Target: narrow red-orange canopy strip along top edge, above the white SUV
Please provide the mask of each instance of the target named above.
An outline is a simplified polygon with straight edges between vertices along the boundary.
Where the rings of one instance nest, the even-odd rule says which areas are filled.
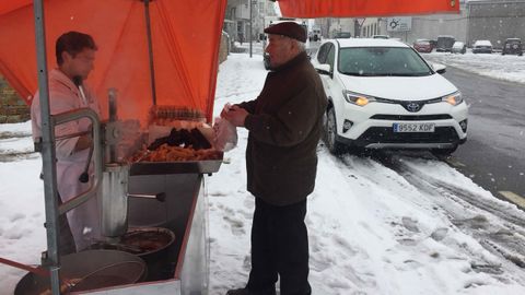
[[[278,0],[289,17],[353,17],[459,13],[459,0]]]

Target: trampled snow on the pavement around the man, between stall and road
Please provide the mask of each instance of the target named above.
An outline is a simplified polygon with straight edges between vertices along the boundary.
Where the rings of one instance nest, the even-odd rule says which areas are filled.
[[[255,59],[255,60],[254,60]],[[252,91],[231,95],[221,90],[262,84],[261,59],[231,55],[222,64],[215,114],[225,103],[255,98]],[[445,63],[445,62],[443,62]],[[240,71],[246,69],[246,72]],[[262,74],[261,74],[262,72]],[[258,76],[260,75],[260,76]],[[237,78],[238,76],[238,78]],[[241,85],[241,88],[244,88]],[[209,179],[211,225],[211,294],[242,286],[249,271],[249,231],[253,197],[245,190],[244,149],[247,132],[240,129],[240,146],[231,164]],[[438,161],[411,162],[446,182],[472,193],[489,192]],[[228,184],[224,186],[224,184]],[[221,188],[222,187],[222,188]],[[311,283],[313,294],[520,294],[523,275],[490,275],[471,266],[499,264],[500,258],[455,227],[436,210],[434,196],[423,194],[405,178],[370,160],[342,161],[319,148],[316,190],[310,197]],[[504,203],[504,202],[501,202]],[[509,211],[517,209],[506,203]],[[520,214],[520,213],[517,213]]]

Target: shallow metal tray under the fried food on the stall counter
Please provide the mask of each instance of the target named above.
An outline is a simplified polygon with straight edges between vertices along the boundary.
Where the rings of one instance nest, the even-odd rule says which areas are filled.
[[[178,162],[138,162],[131,164],[129,175],[212,174],[219,170],[221,164],[222,158]]]

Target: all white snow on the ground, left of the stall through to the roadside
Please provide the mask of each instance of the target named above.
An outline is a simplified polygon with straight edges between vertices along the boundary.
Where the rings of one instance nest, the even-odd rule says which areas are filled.
[[[429,57],[445,64],[457,62],[458,56],[448,56]],[[448,60],[452,58],[454,61]],[[478,71],[474,61],[462,63],[470,66]],[[505,74],[504,70],[491,72]],[[255,98],[266,73],[260,55],[230,55],[220,67],[214,114],[226,103]],[[30,151],[30,130],[28,123],[0,125],[0,156]],[[2,137],[7,132],[11,132],[9,139]],[[14,133],[26,137],[13,139]],[[243,286],[249,271],[254,198],[246,191],[246,130],[240,129],[238,146],[226,153],[220,172],[207,178],[212,295]],[[523,270],[489,252],[456,226],[444,210],[451,202],[444,193],[422,189],[407,175],[429,184],[439,179],[495,203],[504,214],[523,214],[514,205],[497,200],[435,160],[400,156],[402,169],[396,169],[373,158],[334,157],[323,145],[318,154],[316,189],[306,216],[313,294],[525,294]],[[40,160],[34,154],[0,162],[0,257],[24,263],[39,261],[46,244],[39,169]],[[453,214],[459,217],[481,214],[491,223],[502,223],[487,212],[458,202],[455,205],[458,209]],[[495,266],[501,271],[479,271],[475,266]],[[0,294],[11,294],[23,273],[0,266]]]

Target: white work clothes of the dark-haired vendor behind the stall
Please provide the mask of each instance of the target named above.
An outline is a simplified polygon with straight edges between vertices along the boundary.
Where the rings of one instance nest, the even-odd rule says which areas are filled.
[[[68,110],[90,107],[100,114],[98,102],[89,86],[84,84],[84,94],[86,102],[82,99],[79,88],[60,70],[54,69],[49,72],[49,107],[50,114],[56,115]],[[31,105],[31,118],[33,128],[33,139],[42,137],[42,116],[39,94],[36,93]],[[55,137],[88,131],[90,119],[70,121],[56,127]],[[57,156],[57,182],[58,191],[63,202],[86,191],[93,179],[90,169],[90,182],[82,184],[79,176],[85,169],[89,150],[73,152],[79,138],[58,140],[56,142]],[[92,198],[81,206],[68,212],[68,221],[73,233],[77,249],[81,250],[89,246],[92,239],[100,235],[100,213],[96,198]]]

